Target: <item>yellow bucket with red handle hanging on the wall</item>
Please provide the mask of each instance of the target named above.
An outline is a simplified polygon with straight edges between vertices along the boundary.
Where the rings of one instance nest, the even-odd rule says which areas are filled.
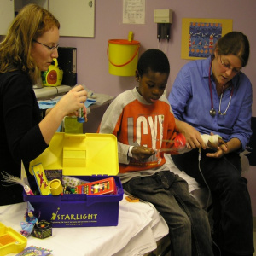
[[[109,73],[116,76],[134,76],[140,42],[125,39],[108,40]]]

